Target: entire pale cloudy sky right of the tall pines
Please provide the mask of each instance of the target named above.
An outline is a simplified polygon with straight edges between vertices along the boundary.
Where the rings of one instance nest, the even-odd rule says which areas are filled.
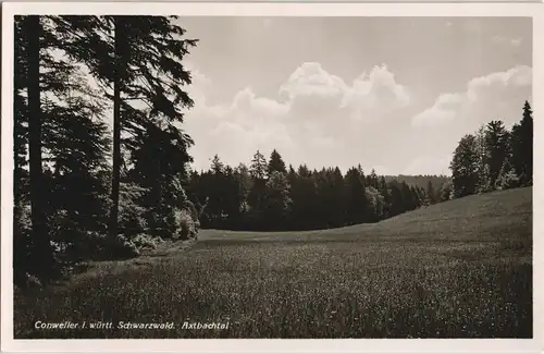
[[[311,168],[448,174],[459,138],[519,121],[532,24],[516,17],[182,17],[197,170],[276,148]]]

